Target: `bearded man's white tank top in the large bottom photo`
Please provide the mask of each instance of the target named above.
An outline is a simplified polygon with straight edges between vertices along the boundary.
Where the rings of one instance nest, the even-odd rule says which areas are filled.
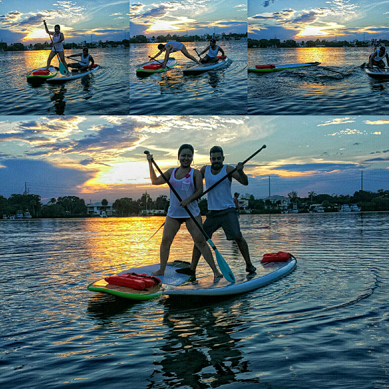
[[[223,178],[227,174],[227,165],[223,165],[223,168],[219,174],[213,175],[211,173],[211,166],[207,165],[205,168],[205,186],[211,187],[214,183]],[[208,192],[208,210],[209,211],[220,211],[227,208],[235,208],[234,200],[231,195],[231,181],[226,178],[216,187]]]

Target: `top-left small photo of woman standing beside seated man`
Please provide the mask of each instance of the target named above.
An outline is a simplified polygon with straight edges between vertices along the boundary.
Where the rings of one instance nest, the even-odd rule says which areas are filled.
[[[4,0],[0,14],[0,115],[129,113],[128,2]]]

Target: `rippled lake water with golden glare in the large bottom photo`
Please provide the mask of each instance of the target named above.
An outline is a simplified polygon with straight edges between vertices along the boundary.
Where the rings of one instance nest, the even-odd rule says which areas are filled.
[[[254,264],[286,278],[224,299],[133,303],[92,281],[158,261],[164,219],[3,220],[0,386],[387,389],[389,213],[242,215]],[[268,225],[270,229],[256,229]],[[231,269],[234,243],[213,241]],[[171,259],[189,259],[184,227]],[[201,260],[198,277],[210,275]]]

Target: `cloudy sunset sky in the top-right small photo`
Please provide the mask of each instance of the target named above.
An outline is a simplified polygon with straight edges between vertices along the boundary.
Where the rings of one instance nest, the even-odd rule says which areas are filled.
[[[248,0],[249,37],[254,39],[389,39],[388,22],[388,0]]]

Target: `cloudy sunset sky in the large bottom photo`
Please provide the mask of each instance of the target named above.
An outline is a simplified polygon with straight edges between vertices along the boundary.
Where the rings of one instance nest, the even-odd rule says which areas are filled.
[[[352,195],[389,189],[389,119],[378,116],[40,116],[0,117],[0,195],[30,192],[44,202],[79,196],[110,202],[153,199],[168,187],[150,185],[144,150],[162,170],[177,166],[181,143],[195,147],[195,164],[209,162],[221,145],[235,166],[245,165],[249,186],[233,191],[255,198],[295,190]],[[178,140],[179,139],[179,140]]]

